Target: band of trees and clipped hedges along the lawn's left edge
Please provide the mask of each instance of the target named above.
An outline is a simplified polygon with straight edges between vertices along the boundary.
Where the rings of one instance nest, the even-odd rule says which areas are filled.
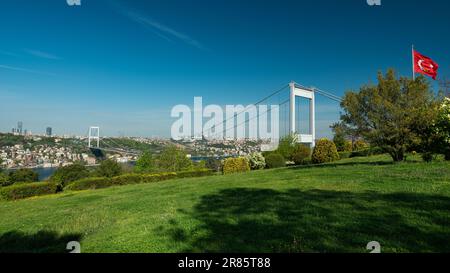
[[[15,200],[64,190],[96,189],[212,174],[213,171],[205,166],[205,162],[194,163],[183,149],[170,145],[157,155],[144,153],[135,167],[119,164],[112,159],[101,161],[95,168],[75,162],[58,168],[45,182],[37,182],[38,175],[31,169],[20,169],[9,174],[0,170],[0,198]]]

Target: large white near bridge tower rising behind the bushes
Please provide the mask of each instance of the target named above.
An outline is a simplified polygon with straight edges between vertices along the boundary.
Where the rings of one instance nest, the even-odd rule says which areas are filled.
[[[316,114],[315,114],[315,96],[314,89],[300,87],[295,82],[289,84],[290,99],[289,99],[289,132],[298,134],[298,141],[300,143],[310,144],[311,148],[315,146],[316,139]],[[301,97],[309,99],[309,133],[299,134],[299,128],[296,128],[296,102],[295,98]]]

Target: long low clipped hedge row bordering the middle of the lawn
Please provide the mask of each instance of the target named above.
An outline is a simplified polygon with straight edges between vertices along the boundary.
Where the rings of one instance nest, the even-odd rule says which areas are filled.
[[[140,184],[151,183],[157,181],[163,181],[173,178],[186,178],[186,177],[200,177],[212,175],[213,171],[209,169],[201,169],[194,171],[184,172],[167,172],[158,174],[124,174],[116,177],[93,177],[85,178],[74,181],[67,185],[64,190],[88,190],[88,189],[101,189],[112,186],[128,185],[128,184]]]

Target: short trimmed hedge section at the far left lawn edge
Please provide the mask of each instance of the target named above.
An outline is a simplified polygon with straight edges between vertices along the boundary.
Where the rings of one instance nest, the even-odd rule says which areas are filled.
[[[0,189],[4,200],[17,200],[31,196],[52,194],[56,192],[56,184],[51,182],[17,183]]]

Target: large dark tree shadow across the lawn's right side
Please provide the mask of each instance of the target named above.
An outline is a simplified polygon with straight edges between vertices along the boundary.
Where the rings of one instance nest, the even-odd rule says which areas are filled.
[[[450,252],[450,198],[422,194],[233,188],[203,196],[199,224],[159,227],[182,252]]]

